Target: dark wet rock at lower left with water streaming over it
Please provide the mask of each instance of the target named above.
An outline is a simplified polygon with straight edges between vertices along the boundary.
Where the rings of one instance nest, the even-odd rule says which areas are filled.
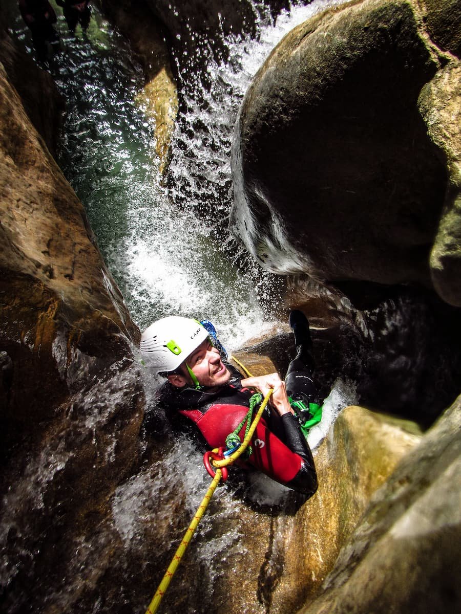
[[[107,573],[110,585],[124,556],[111,499],[140,457],[144,397],[129,362],[68,398],[45,427],[31,412],[40,445],[19,448],[2,472],[4,612],[44,604],[84,612],[79,604],[89,595],[95,604],[93,591],[108,599],[111,588],[101,578]]]

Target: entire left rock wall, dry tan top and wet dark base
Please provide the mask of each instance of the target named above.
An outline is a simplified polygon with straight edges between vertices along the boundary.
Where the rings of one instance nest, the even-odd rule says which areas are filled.
[[[139,462],[139,332],[1,65],[0,208],[2,607],[77,611],[111,563],[111,497]]]

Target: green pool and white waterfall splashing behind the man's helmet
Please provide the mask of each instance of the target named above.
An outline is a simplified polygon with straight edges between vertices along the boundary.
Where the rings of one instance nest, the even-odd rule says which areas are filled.
[[[229,59],[207,60],[210,88],[190,74],[179,84],[187,112],[176,126],[169,188],[160,182],[153,126],[134,103],[143,75],[126,41],[96,8],[87,35],[71,36],[58,17],[63,53],[50,72],[66,99],[60,164],[141,328],[167,314],[208,317],[230,349],[269,328],[280,281],[222,230],[231,206],[232,130],[270,50],[327,4],[293,6],[275,24],[255,4],[258,40],[227,37]],[[20,20],[17,33],[28,37]]]

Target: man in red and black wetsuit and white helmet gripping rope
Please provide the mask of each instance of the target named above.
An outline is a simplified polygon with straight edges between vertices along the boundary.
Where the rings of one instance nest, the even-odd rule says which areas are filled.
[[[288,397],[308,406],[315,394],[312,342],[301,311],[291,313],[290,325],[297,356],[285,381],[277,373],[243,378],[224,359],[222,347],[207,328],[179,316],[165,317],[149,326],[141,336],[141,354],[146,364],[168,380],[162,405],[191,419],[211,448],[226,445],[227,435],[245,418],[254,391],[264,396],[272,389],[245,464],[310,497],[317,490],[312,452]],[[241,440],[244,430],[242,426]]]

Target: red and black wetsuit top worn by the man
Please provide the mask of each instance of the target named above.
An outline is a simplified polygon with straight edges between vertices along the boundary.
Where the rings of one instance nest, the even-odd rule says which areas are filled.
[[[166,384],[162,405],[178,411],[195,422],[211,448],[226,446],[226,437],[245,418],[253,392],[242,388],[242,375],[226,363],[231,373],[229,384],[218,391],[176,388]],[[240,438],[243,441],[245,426]],[[317,475],[312,452],[293,414],[278,416],[266,407],[251,439],[251,456],[245,464],[258,468],[288,488],[312,496],[317,490]]]

